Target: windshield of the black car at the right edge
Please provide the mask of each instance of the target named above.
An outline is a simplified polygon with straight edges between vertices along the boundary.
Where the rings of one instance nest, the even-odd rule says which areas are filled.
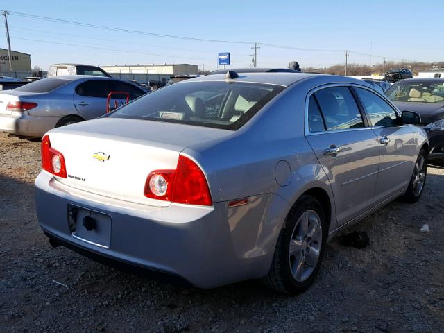
[[[386,91],[393,102],[444,103],[444,83],[396,83]]]

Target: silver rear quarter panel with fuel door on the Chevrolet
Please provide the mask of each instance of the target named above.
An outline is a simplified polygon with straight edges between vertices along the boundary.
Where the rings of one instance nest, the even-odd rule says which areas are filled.
[[[289,204],[282,224],[301,194],[321,187],[330,196],[334,212],[330,183],[304,136],[305,96],[311,87],[301,83],[288,87],[232,136],[182,152],[200,163],[214,201],[274,194]],[[276,176],[282,178],[276,172],[280,161],[289,165],[284,186],[276,180]],[[335,228],[336,221],[332,219],[330,226]]]

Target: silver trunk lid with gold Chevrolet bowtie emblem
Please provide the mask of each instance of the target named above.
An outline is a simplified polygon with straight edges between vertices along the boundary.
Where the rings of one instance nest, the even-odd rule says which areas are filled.
[[[186,130],[187,135],[184,135]],[[176,169],[180,152],[228,130],[133,119],[96,119],[51,130],[51,146],[65,157],[60,182],[94,194],[165,207],[144,196],[151,171]]]

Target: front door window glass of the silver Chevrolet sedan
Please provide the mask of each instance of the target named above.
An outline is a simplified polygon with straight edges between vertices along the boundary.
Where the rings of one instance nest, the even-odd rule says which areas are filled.
[[[371,126],[397,125],[396,112],[386,101],[367,89],[355,88],[355,90],[370,117]]]

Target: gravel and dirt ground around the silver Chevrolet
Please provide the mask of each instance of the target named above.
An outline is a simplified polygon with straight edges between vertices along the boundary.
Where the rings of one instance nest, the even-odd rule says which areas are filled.
[[[0,134],[0,332],[443,332],[444,169],[429,168],[419,203],[352,228],[370,246],[328,244],[315,284],[293,297],[255,281],[185,289],[51,248],[39,170],[40,143]]]

